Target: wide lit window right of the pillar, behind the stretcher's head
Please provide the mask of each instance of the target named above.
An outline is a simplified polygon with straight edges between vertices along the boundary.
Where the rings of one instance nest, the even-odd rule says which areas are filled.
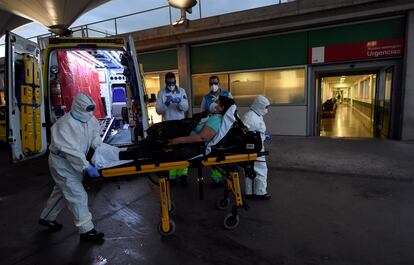
[[[213,75],[193,77],[194,102],[198,106],[209,92],[208,78]],[[281,69],[217,75],[220,86],[230,92],[236,104],[250,106],[257,95],[266,96],[271,104],[305,104],[305,69]]]

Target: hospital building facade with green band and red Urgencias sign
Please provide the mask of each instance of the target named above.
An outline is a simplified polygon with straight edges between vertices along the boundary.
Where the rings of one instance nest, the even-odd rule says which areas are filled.
[[[241,113],[269,98],[276,135],[414,139],[413,1],[299,0],[132,35],[149,93],[173,71],[193,112],[217,75]]]

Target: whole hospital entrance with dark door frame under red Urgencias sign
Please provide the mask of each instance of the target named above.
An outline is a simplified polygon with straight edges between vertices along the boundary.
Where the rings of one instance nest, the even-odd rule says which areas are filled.
[[[315,135],[398,139],[401,96],[397,60],[318,66]]]

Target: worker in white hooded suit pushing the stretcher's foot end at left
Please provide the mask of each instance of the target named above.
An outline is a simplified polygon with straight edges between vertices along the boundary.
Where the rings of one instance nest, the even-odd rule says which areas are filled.
[[[94,229],[88,194],[82,185],[86,173],[90,177],[99,177],[98,169],[86,159],[89,148],[96,149],[102,144],[99,123],[93,116],[95,106],[89,96],[80,93],[73,100],[70,112],[51,128],[49,169],[56,184],[39,219],[40,225],[59,231],[62,224],[56,222],[56,217],[67,205],[79,229],[80,239],[85,241],[100,241],[104,237]]]

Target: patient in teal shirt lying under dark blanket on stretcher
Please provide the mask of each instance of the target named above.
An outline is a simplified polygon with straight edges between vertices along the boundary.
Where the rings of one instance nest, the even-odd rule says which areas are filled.
[[[191,160],[208,154],[224,154],[217,149],[226,142],[226,151],[233,153],[259,152],[262,148],[260,135],[249,132],[236,119],[234,100],[219,97],[214,113],[195,114],[192,118],[154,124],[148,137],[119,152],[119,159],[135,163],[171,162]],[[231,137],[224,136],[230,134]],[[247,150],[248,149],[248,150]]]

